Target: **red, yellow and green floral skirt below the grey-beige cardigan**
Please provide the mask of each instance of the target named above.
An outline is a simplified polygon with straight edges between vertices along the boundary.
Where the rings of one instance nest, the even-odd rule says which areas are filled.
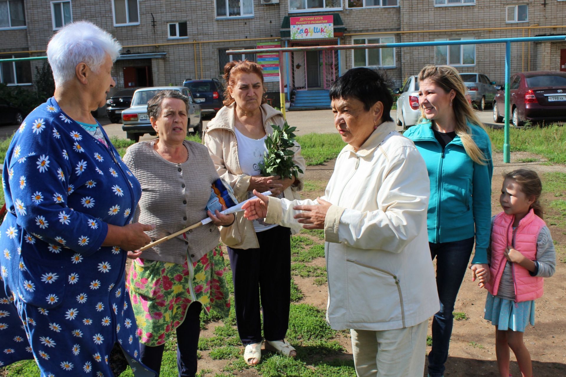
[[[128,285],[140,342],[148,346],[164,344],[183,323],[193,301],[199,301],[207,313],[213,309],[228,317],[230,297],[225,271],[224,255],[218,246],[192,266],[187,259],[183,265],[135,259]]]

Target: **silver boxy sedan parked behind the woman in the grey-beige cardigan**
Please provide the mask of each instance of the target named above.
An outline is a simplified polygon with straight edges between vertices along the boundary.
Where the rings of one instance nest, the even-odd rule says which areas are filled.
[[[128,139],[138,142],[140,136],[145,133],[156,135],[155,130],[151,127],[151,123],[149,122],[149,115],[147,115],[147,102],[155,96],[157,92],[166,89],[177,90],[188,97],[187,135],[190,133],[190,128],[192,128],[193,132],[197,135],[201,135],[203,132],[203,119],[201,117],[200,106],[195,104],[191,91],[188,88],[184,86],[151,86],[149,88],[136,90],[132,97],[131,107],[122,111],[122,131],[126,131],[126,137]]]

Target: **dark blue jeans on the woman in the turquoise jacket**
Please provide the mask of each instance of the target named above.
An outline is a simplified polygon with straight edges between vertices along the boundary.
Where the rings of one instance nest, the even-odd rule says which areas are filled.
[[[442,377],[444,374],[454,322],[452,311],[473,246],[474,237],[440,244],[428,242],[432,260],[436,257],[436,287],[440,299],[440,310],[432,318],[432,349],[428,354],[430,377]]]

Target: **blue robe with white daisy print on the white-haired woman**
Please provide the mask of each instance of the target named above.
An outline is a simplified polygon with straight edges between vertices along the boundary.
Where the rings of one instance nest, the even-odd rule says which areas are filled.
[[[19,284],[15,296],[0,294],[0,364],[23,355],[35,357],[45,376],[112,375],[114,341],[135,363],[139,341],[121,278],[125,253],[101,246],[102,233],[108,223],[130,222],[140,185],[114,146],[88,136],[92,130],[68,118],[54,99],[27,123],[12,136],[2,179],[12,216],[0,229],[0,292],[7,278]],[[97,132],[106,137],[104,129]]]

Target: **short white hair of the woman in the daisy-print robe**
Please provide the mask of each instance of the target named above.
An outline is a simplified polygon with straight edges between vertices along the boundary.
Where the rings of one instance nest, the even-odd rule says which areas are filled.
[[[97,72],[110,55],[115,62],[122,45],[110,33],[89,21],[76,21],[65,25],[53,35],[47,45],[47,58],[53,71],[55,86],[75,76],[75,67],[84,62]]]

